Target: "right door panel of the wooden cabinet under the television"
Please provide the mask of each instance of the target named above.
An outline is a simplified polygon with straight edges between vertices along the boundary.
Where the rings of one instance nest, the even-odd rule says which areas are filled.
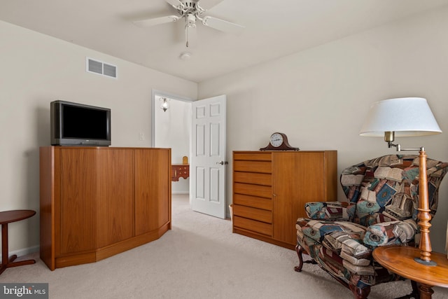
[[[171,151],[135,150],[135,235],[160,228],[171,213]]]

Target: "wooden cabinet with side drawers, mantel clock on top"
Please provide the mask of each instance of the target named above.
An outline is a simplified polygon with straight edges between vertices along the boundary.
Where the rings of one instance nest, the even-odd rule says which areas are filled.
[[[294,249],[304,204],[336,198],[336,151],[233,153],[233,232]]]

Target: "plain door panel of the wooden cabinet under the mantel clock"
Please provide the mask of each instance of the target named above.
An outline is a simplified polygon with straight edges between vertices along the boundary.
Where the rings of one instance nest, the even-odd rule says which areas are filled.
[[[274,153],[272,209],[274,239],[295,244],[295,222],[306,216],[304,204],[324,201],[323,152]]]

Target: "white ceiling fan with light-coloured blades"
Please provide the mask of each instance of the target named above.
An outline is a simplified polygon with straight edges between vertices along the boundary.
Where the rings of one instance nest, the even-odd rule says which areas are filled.
[[[232,34],[239,34],[244,30],[244,26],[237,25],[232,22],[221,20],[218,18],[211,17],[209,15],[203,16],[207,9],[200,6],[201,0],[165,0],[170,4],[179,15],[167,15],[165,17],[150,18],[146,20],[139,20],[133,22],[134,25],[139,27],[151,27],[155,25],[165,24],[169,22],[176,22],[177,20],[183,18],[186,22],[185,32],[186,32],[186,46],[190,46],[188,39],[189,36],[195,35],[196,21],[200,20],[202,25],[217,29],[221,32],[227,32]],[[223,0],[204,0],[207,2],[208,8],[216,6]]]

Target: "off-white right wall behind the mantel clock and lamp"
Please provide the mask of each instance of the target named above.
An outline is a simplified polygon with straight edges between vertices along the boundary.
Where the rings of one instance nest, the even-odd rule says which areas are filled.
[[[426,97],[445,133],[398,142],[425,146],[428,157],[448,161],[447,32],[448,6],[204,81],[199,98],[227,95],[228,157],[236,150],[258,151],[270,134],[283,132],[291,146],[302,150],[337,150],[340,172],[395,153],[381,138],[358,136],[370,104],[392,97]],[[231,172],[230,163],[229,202]],[[338,195],[344,199],[340,187]],[[448,178],[442,182],[431,229],[436,251],[444,251],[447,218]]]

